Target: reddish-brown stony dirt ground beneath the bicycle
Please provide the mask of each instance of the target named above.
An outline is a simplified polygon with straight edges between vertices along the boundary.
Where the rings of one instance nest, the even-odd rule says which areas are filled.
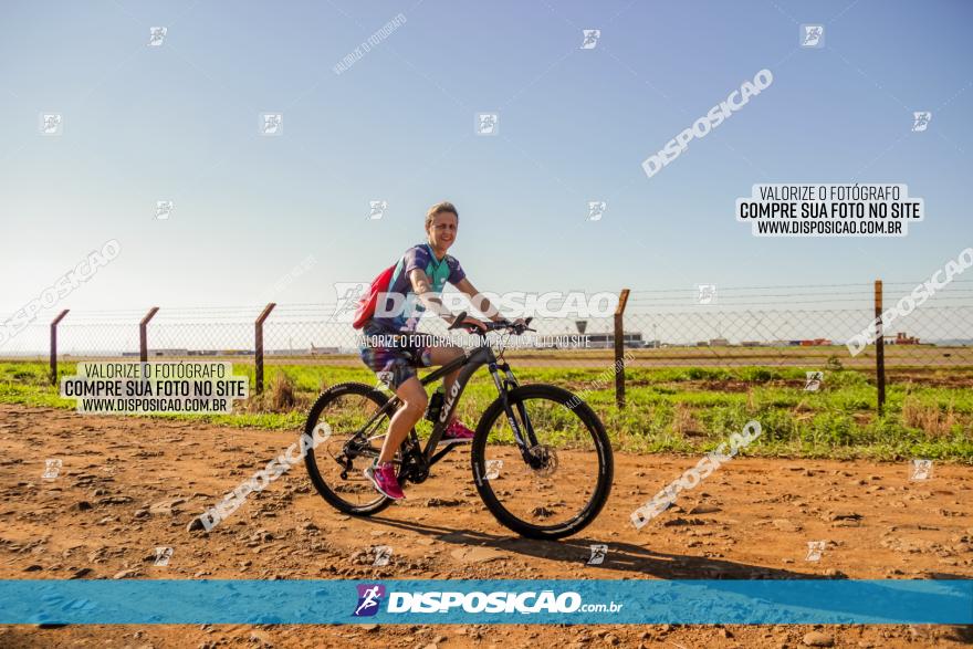
[[[695,458],[616,453],[599,519],[562,542],[485,510],[468,451],[379,516],[339,515],[295,467],[211,533],[187,524],[296,435],[0,405],[0,578],[971,578],[973,468],[736,459],[641,531],[629,514]],[[42,479],[45,459],[62,460]],[[571,485],[565,485],[569,489]],[[819,561],[808,542],[826,541]],[[592,544],[607,544],[590,566]],[[391,547],[370,565],[369,546]],[[170,546],[168,566],[154,548]],[[808,635],[810,634],[810,636]],[[817,634],[815,636],[814,634]],[[922,626],[33,626],[7,647],[959,647]]]

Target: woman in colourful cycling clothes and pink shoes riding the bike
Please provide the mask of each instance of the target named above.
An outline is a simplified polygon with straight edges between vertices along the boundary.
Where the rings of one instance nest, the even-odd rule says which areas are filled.
[[[491,321],[504,321],[490,301],[473,287],[460,262],[447,254],[456,242],[458,224],[459,213],[452,203],[439,202],[429,208],[426,213],[428,242],[414,245],[402,254],[388,290],[379,295],[378,315],[363,327],[365,339],[362,360],[402,401],[389,421],[380,456],[365,469],[365,475],[375,489],[395,500],[405,498],[405,494],[396,478],[393,458],[409,431],[422,418],[428,401],[416,368],[446,365],[463,354],[456,345],[431,345],[427,336],[416,334],[422,312],[429,308],[450,324],[456,324],[456,316],[439,299],[439,293],[449,282],[467,295],[481,313],[492,314]],[[460,324],[485,331],[485,324],[474,317],[464,317]],[[447,394],[458,375],[459,369],[443,378]],[[470,442],[472,438],[473,431],[453,415],[440,443]]]

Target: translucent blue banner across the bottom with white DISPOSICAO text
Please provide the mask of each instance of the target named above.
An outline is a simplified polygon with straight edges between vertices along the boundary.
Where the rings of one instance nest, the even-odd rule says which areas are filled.
[[[973,580],[0,580],[0,624],[973,624]]]

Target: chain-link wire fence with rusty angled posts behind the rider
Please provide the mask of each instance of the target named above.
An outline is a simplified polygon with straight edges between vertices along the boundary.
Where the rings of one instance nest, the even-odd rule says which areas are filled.
[[[953,281],[928,299],[912,299],[920,284],[636,290],[614,316],[535,318],[536,333],[505,342],[506,357],[527,367],[617,367],[622,379],[626,368],[753,366],[859,370],[879,385],[886,378],[935,383],[944,371],[973,368],[973,282]],[[868,339],[882,302],[892,320],[881,336],[872,332]],[[346,304],[161,307],[149,318],[149,310],[72,311],[56,325],[52,371],[57,359],[142,355],[222,358],[261,368],[360,367],[360,332],[343,317],[346,311]],[[261,314],[265,321],[258,324]],[[0,356],[48,358],[53,328],[23,328],[0,347]],[[420,331],[464,342],[436,317],[422,318]]]

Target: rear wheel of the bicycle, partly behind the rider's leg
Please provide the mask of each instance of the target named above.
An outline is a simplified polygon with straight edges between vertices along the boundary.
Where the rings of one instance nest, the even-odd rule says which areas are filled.
[[[386,412],[369,427],[366,447],[374,454],[346,454],[345,444],[369,419],[385,406],[388,397],[372,386],[357,383],[336,385],[322,394],[307,415],[304,432],[313,435],[315,427],[327,423],[332,433],[316,449],[308,449],[304,465],[317,493],[335,509],[359,516],[376,514],[391,500],[378,493],[363,471],[378,456],[391,412]],[[400,453],[396,463],[401,468]]]

